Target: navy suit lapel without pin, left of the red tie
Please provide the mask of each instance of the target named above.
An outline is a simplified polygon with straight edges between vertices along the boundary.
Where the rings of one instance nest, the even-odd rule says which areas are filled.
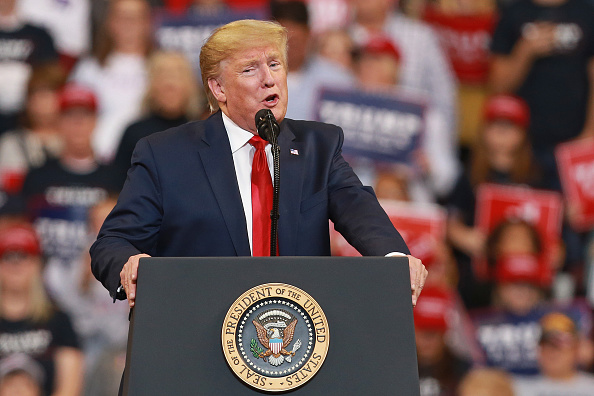
[[[198,152],[238,256],[250,256],[245,213],[221,112],[205,122]]]

